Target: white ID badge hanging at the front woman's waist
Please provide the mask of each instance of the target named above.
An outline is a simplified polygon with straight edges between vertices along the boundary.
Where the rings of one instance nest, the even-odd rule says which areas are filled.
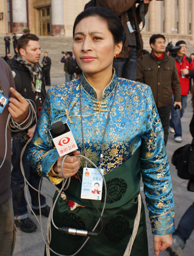
[[[104,169],[101,169],[102,175]],[[83,168],[82,177],[82,199],[101,200],[103,189],[103,178],[96,168]]]

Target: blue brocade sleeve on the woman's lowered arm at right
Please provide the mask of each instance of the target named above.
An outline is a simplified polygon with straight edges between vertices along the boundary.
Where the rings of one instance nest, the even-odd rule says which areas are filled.
[[[151,88],[146,103],[146,132],[141,136],[141,175],[152,232],[174,232],[174,198],[171,174],[164,146],[164,133]]]

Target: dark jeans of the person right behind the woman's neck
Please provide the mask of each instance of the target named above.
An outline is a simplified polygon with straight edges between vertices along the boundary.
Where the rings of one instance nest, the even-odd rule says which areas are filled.
[[[130,46],[129,58],[114,58],[113,67],[118,77],[135,81],[137,72],[137,48]]]

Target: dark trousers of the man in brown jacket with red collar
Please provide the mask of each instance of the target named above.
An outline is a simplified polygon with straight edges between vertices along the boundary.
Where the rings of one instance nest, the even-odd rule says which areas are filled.
[[[166,146],[168,140],[168,130],[169,130],[169,117],[171,113],[171,104],[166,106],[161,106],[161,108],[157,108],[158,114],[162,123],[162,127],[164,130],[164,144]]]

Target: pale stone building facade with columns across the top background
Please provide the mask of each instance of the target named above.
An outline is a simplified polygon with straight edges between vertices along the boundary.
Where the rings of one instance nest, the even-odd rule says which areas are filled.
[[[89,0],[0,0],[1,33],[31,33],[71,36],[75,17]],[[2,19],[3,13],[3,19]],[[153,33],[162,33],[167,41],[184,39],[194,46],[194,0],[153,0],[142,30],[144,48],[149,48]],[[141,25],[140,25],[141,26]]]

